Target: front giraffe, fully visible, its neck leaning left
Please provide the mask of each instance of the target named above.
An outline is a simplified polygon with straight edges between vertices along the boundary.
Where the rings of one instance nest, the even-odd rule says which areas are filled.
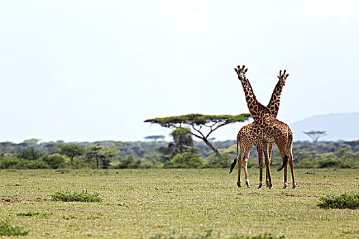
[[[238,66],[235,68],[238,79],[241,81],[245,99],[247,101],[248,109],[254,119],[252,127],[252,134],[254,135],[254,144],[257,146],[258,152],[263,152],[265,156],[266,173],[268,177],[268,188],[272,188],[271,173],[269,165],[269,143],[276,143],[282,156],[283,164],[277,170],[280,171],[284,168],[284,185],[283,189],[287,187],[287,165],[291,167],[291,175],[293,181],[293,188],[295,188],[295,177],[293,169],[293,133],[287,124],[280,122],[269,111],[267,107],[256,100],[250,82],[245,77],[245,66],[242,68]],[[258,154],[259,164],[263,165],[263,154]],[[259,185],[262,186],[263,169],[259,168]]]

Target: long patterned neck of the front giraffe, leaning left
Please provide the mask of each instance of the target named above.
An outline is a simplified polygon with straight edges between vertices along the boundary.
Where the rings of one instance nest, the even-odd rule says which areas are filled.
[[[248,79],[244,79],[241,81],[241,83],[245,94],[245,100],[247,100],[248,109],[250,110],[254,121],[257,121],[261,115],[261,112],[265,111],[267,108],[258,102],[258,100],[256,100],[256,96],[254,95],[252,86],[250,85]]]

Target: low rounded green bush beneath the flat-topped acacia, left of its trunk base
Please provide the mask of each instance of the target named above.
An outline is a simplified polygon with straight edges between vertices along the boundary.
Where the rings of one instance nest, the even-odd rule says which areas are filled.
[[[177,154],[169,163],[165,164],[165,168],[199,168],[204,165],[204,161],[199,154],[194,152],[184,152]]]

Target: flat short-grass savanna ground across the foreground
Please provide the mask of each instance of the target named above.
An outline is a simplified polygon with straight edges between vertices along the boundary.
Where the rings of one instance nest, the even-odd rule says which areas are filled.
[[[2,170],[0,219],[29,230],[25,238],[359,237],[359,210],[317,206],[358,193],[359,169],[295,169],[295,190],[281,189],[282,171],[272,170],[271,190],[249,173],[253,188],[237,188],[228,169]],[[103,201],[51,201],[59,191]]]

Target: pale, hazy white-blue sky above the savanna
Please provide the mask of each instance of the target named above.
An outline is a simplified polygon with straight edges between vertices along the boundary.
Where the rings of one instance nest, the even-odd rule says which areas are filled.
[[[145,119],[248,113],[235,66],[278,119],[358,112],[359,1],[1,1],[0,141],[141,141]],[[236,139],[237,123],[211,137]]]

